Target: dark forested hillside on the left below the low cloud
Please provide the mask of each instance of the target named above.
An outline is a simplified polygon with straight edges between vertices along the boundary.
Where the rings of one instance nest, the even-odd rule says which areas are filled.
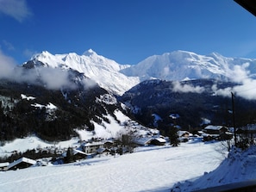
[[[47,90],[39,85],[0,82],[0,139],[11,140],[28,134],[41,139],[70,139],[74,128],[93,130],[113,114],[117,102],[101,102],[108,95],[98,86],[87,90]],[[111,96],[109,96],[111,97]],[[98,98],[98,99],[97,99]]]

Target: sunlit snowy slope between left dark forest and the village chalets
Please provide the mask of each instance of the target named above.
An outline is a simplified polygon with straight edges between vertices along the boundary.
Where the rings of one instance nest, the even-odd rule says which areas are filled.
[[[22,95],[24,96],[24,95]],[[24,96],[24,98],[28,99],[28,96]],[[1,100],[0,100],[1,101]],[[37,104],[37,107],[43,107],[42,105]],[[111,115],[104,115],[106,122],[102,118],[101,123],[97,123],[95,121],[91,121],[94,125],[94,131],[88,131],[86,129],[75,129],[78,133],[79,137],[73,137],[69,140],[64,141],[54,141],[54,142],[46,142],[34,135],[24,137],[21,139],[15,139],[13,141],[4,142],[3,146],[0,146],[0,158],[4,156],[10,156],[12,152],[26,152],[27,150],[33,150],[40,146],[40,148],[46,147],[57,147],[57,148],[67,148],[68,146],[75,146],[79,143],[80,140],[91,140],[92,138],[97,139],[111,139],[117,138],[120,133],[127,133],[130,130],[135,130],[138,136],[145,136],[150,134],[159,134],[157,129],[151,129],[132,121],[127,115],[124,115],[122,111],[116,109],[113,113],[116,119]],[[127,127],[128,126],[128,127]],[[0,190],[1,191],[1,190]]]

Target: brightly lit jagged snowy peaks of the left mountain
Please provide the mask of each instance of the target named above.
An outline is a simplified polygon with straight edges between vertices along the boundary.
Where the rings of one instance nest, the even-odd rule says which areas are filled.
[[[77,53],[51,54],[47,51],[36,54],[32,58],[37,66],[61,68],[79,71],[86,77],[96,81],[99,86],[117,95],[122,95],[134,85],[138,84],[138,77],[127,77],[120,70],[129,65],[119,65],[116,61],[104,58],[91,49],[83,55]]]

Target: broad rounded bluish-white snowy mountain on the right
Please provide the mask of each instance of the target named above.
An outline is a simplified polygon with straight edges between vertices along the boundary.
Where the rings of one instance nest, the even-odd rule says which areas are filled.
[[[196,53],[176,51],[153,55],[133,65],[122,72],[127,76],[140,77],[141,80],[150,77],[163,80],[188,80],[198,78],[217,78],[234,80],[234,66],[256,73],[256,59],[226,58],[218,53],[207,56]]]

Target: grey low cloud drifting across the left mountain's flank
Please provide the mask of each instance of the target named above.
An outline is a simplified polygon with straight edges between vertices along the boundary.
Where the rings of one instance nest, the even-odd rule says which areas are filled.
[[[59,90],[60,88],[77,88],[75,84],[75,78],[71,73],[74,71],[63,70],[61,68],[49,68],[49,67],[34,67],[31,65],[27,68],[26,65],[16,65],[14,59],[4,55],[0,52],[0,78],[15,81],[16,83],[28,83],[28,84],[41,84],[49,90]],[[25,66],[25,67],[24,67]],[[82,74],[78,74],[83,76]],[[91,87],[96,83],[81,77],[80,83],[84,85],[84,88]]]

